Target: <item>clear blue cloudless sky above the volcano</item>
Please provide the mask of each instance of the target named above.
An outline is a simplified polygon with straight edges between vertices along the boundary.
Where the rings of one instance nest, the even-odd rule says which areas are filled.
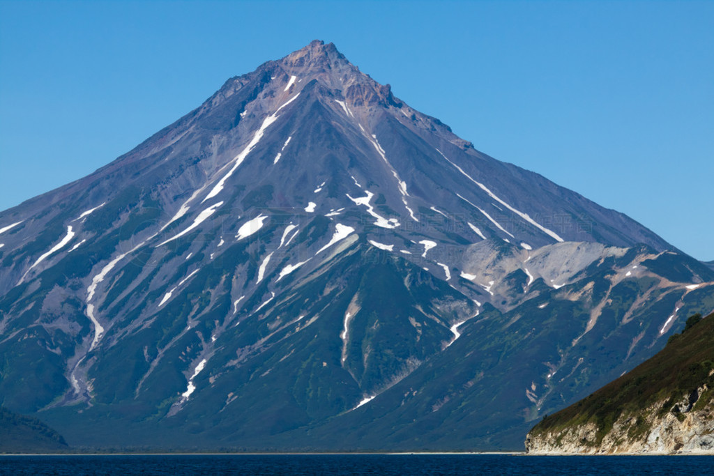
[[[313,39],[479,150],[714,260],[714,1],[0,0],[0,210]]]

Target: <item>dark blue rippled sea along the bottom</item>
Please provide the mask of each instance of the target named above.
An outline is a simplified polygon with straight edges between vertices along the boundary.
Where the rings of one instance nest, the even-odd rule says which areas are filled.
[[[2,475],[710,475],[710,456],[0,456]]]

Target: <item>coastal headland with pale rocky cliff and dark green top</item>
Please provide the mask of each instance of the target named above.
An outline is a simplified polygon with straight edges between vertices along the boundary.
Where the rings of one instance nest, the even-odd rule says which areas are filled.
[[[529,454],[714,455],[714,318],[528,432]]]

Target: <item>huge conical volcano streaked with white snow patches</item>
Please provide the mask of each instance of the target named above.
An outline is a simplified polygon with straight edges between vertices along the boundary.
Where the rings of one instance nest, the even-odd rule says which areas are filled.
[[[0,401],[73,445],[514,448],[714,307],[710,268],[321,41],[0,243]]]

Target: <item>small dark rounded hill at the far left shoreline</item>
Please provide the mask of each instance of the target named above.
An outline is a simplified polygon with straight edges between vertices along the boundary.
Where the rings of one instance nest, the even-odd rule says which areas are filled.
[[[69,450],[64,438],[33,417],[17,415],[0,407],[0,452],[36,453]]]

